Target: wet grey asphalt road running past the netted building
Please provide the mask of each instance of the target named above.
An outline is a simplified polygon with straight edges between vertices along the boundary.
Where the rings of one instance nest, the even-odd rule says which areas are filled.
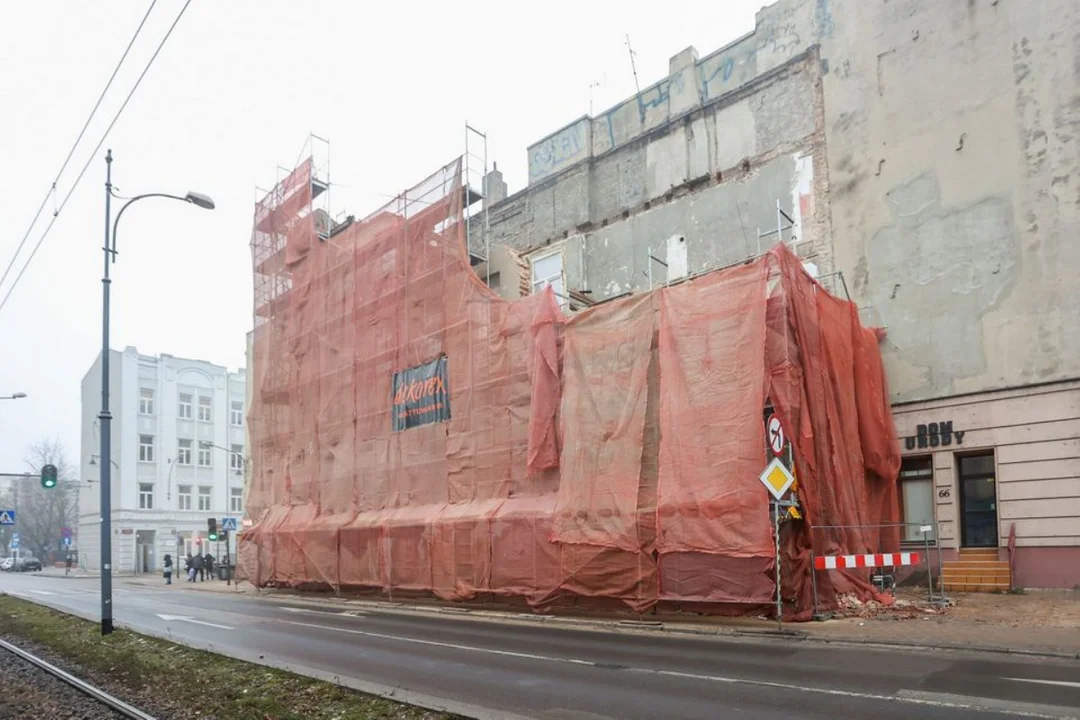
[[[97,581],[0,574],[96,620]],[[1080,718],[1080,662],[500,623],[117,581],[119,625],[484,718]]]

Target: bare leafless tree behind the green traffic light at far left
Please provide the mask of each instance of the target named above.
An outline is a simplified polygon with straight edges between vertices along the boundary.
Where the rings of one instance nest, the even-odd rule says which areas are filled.
[[[67,459],[64,444],[43,439],[26,451],[28,477],[12,485],[13,503],[23,547],[45,559],[50,551],[60,549],[63,528],[75,524],[79,508],[79,487],[75,466]],[[41,468],[56,465],[56,487],[41,485]]]

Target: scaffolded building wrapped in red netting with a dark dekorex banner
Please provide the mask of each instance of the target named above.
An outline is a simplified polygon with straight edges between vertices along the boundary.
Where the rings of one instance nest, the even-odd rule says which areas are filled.
[[[877,332],[783,244],[565,316],[550,288],[511,302],[475,275],[460,162],[333,230],[311,168],[256,206],[242,578],[757,611],[777,589],[767,406],[802,508],[780,531],[785,616],[812,611],[811,549],[899,549],[851,527],[899,513]],[[874,594],[818,585],[823,608]]]

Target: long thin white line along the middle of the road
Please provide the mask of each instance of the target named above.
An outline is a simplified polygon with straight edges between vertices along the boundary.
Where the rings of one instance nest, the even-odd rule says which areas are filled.
[[[546,661],[550,663],[566,663],[568,665],[586,665],[591,667],[596,667],[598,669],[604,669],[605,667],[611,669],[612,667],[610,665],[606,665],[605,663],[597,663],[591,660],[580,660],[578,657],[556,657],[554,655],[538,655],[527,652],[515,652],[513,650],[496,650],[495,648],[481,648],[477,646],[459,644],[457,642],[440,642],[438,640],[423,640],[421,638],[409,638],[400,635],[387,635],[384,633],[373,633],[370,630],[355,630],[348,627],[329,627],[327,625],[316,625],[314,623],[301,623],[295,620],[276,620],[271,622],[282,623],[285,625],[298,625],[300,627],[312,627],[320,630],[326,630],[328,633],[347,633],[349,635],[361,635],[364,637],[379,638],[382,640],[396,640],[399,642],[411,642],[421,646],[447,648],[450,650],[463,650],[468,652],[481,652],[490,655],[502,655],[507,657],[539,660],[539,661]],[[820,695],[833,695],[838,697],[851,697],[856,699],[883,701],[888,703],[902,703],[906,705],[923,705],[929,707],[942,707],[942,708],[953,708],[961,710],[982,710],[996,714],[1008,714],[1011,715],[1012,717],[1039,718],[1041,720],[1058,720],[1062,717],[1059,715],[1047,715],[1047,714],[1031,712],[1031,711],[1017,712],[1015,710],[1005,710],[995,707],[987,707],[980,705],[977,703],[939,701],[939,699],[929,699],[924,697],[914,697],[904,695],[881,695],[876,693],[861,693],[851,690],[835,690],[832,688],[811,688],[808,685],[797,685],[788,682],[774,682],[771,680],[750,680],[745,678],[732,678],[718,675],[699,675],[697,673],[680,673],[677,670],[658,670],[646,667],[629,667],[620,665],[618,666],[618,670],[613,671],[662,675],[666,677],[683,678],[688,680],[704,680],[710,682],[720,682],[724,684],[746,684],[746,685],[755,685],[758,688],[770,688],[774,690],[793,690],[796,692],[816,693]]]

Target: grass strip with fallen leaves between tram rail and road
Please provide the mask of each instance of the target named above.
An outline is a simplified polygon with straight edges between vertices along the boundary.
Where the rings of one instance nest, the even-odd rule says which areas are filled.
[[[159,718],[444,720],[455,716],[366,695],[0,595],[0,636],[46,649],[68,671]],[[28,647],[30,652],[38,652]],[[64,662],[59,662],[59,658]]]

